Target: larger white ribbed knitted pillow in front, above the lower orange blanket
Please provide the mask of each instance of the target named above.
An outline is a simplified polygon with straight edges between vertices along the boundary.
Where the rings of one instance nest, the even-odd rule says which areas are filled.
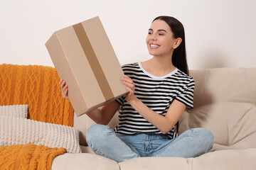
[[[0,146],[29,143],[81,152],[78,130],[73,127],[0,115]]]

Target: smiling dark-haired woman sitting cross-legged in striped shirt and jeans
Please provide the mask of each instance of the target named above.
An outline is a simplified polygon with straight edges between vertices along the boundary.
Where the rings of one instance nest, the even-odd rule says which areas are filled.
[[[193,108],[195,83],[189,77],[183,25],[170,16],[154,19],[146,37],[151,60],[125,64],[122,82],[129,94],[87,113],[97,125],[87,143],[104,157],[123,162],[136,157],[198,157],[213,146],[206,129],[174,132],[186,108]],[[68,86],[60,80],[63,97]],[[107,126],[119,106],[119,125]]]

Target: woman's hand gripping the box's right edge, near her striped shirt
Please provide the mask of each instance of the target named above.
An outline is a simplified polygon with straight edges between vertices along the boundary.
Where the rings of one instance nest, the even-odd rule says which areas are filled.
[[[130,103],[131,101],[134,101],[137,98],[136,96],[134,96],[134,91],[135,91],[134,81],[132,81],[131,78],[124,76],[124,77],[122,77],[122,82],[124,85],[127,86],[127,91],[129,91],[129,93],[125,97],[125,100],[128,103]]]

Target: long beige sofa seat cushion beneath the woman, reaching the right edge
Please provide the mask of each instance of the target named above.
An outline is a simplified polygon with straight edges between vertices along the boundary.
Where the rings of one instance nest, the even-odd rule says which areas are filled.
[[[255,170],[256,148],[208,152],[196,158],[142,157],[119,163],[120,169],[172,170]]]

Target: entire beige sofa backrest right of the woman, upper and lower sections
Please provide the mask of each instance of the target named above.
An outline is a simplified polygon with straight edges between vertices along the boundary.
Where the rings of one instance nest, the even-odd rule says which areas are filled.
[[[195,70],[191,76],[194,108],[183,114],[181,131],[207,128],[221,148],[256,147],[256,67]]]

